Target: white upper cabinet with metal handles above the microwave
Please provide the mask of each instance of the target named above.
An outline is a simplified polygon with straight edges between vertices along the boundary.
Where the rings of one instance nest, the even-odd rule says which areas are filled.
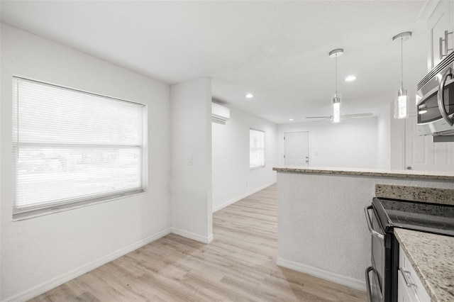
[[[428,71],[454,51],[454,1],[441,0],[428,18]]]

